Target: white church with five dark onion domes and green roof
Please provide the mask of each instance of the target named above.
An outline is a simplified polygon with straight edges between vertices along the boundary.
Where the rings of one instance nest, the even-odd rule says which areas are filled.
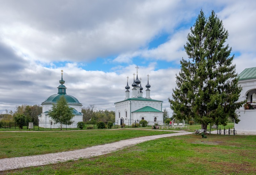
[[[118,125],[121,123],[130,123],[138,122],[139,120],[147,120],[154,122],[163,122],[163,112],[162,112],[162,103],[163,101],[155,100],[150,97],[150,87],[149,84],[149,75],[148,83],[146,85],[146,97],[143,97],[143,87],[141,86],[141,79],[138,79],[138,67],[137,77],[135,80],[135,74],[133,74],[133,83],[132,83],[132,94],[130,97],[130,86],[125,86],[125,98],[120,102],[115,103],[116,107],[116,122]]]

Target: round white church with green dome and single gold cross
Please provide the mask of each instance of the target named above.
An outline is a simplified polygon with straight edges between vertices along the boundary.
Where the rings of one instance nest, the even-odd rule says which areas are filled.
[[[65,81],[62,79],[62,74],[61,74],[61,80],[59,82],[60,82],[60,85],[59,85],[59,87],[57,87],[58,93],[46,98],[46,100],[41,104],[42,105],[42,113],[41,113],[41,115],[38,115],[39,127],[43,127],[43,128],[56,128],[56,127],[58,128],[59,127],[59,124],[54,124],[54,121],[48,115],[48,113],[49,113],[49,110],[52,109],[53,104],[57,104],[57,101],[61,98],[61,96],[65,97],[67,104],[69,105],[69,107],[72,108],[73,114],[75,114],[72,121],[75,123],[79,122],[79,121],[83,121],[83,113],[81,113],[83,105],[78,101],[77,98],[75,98],[71,95],[67,95],[67,93],[66,93],[67,88],[65,85],[63,85],[65,83]],[[68,128],[69,127],[71,127],[71,126],[68,126]]]

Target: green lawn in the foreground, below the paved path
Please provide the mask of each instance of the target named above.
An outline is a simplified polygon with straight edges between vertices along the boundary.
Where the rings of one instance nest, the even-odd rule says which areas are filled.
[[[3,174],[255,174],[256,136],[183,135],[106,155]]]

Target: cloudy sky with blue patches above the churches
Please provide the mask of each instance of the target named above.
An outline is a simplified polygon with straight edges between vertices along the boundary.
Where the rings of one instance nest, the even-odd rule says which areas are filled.
[[[150,96],[163,101],[176,86],[190,27],[202,8],[214,10],[229,36],[239,74],[256,67],[254,0],[0,0],[0,113],[41,105],[58,92],[61,70],[67,94],[84,107],[115,110],[149,75]],[[135,77],[136,78],[136,77]],[[131,97],[131,91],[130,91]]]

